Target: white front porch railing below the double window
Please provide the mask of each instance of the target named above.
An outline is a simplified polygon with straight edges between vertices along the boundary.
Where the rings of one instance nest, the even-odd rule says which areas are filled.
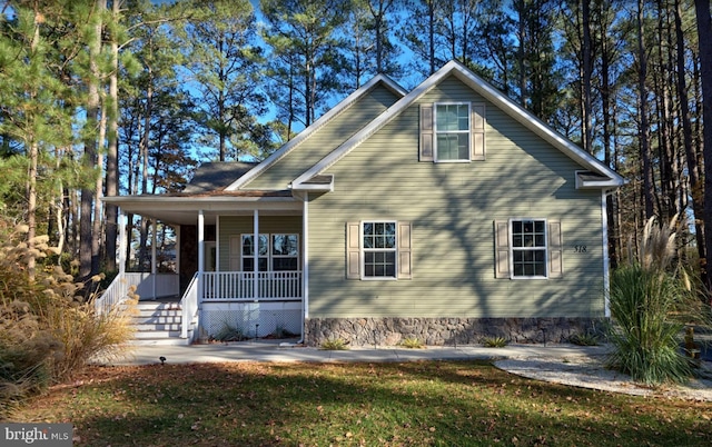
[[[301,299],[301,271],[206,271],[202,275],[206,301]]]

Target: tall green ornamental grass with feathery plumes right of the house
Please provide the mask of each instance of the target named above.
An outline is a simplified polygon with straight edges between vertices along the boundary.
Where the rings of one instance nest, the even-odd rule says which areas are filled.
[[[692,368],[680,349],[681,317],[700,300],[691,291],[682,268],[673,265],[675,222],[645,226],[636,256],[613,272],[609,341],[610,368],[634,380],[659,385],[684,383]]]

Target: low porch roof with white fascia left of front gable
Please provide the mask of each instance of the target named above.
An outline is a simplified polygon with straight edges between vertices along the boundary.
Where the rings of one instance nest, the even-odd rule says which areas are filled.
[[[199,193],[171,192],[164,195],[111,196],[102,200],[118,206],[122,212],[146,216],[165,224],[195,225],[198,211],[204,211],[206,224],[214,224],[216,216],[248,216],[260,213],[299,215],[301,202],[291,191],[209,191]]]

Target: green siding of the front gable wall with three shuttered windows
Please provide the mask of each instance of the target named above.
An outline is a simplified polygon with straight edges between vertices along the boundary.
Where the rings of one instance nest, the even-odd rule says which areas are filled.
[[[602,317],[602,198],[582,169],[455,78],[421,102],[486,103],[486,160],[418,161],[419,102],[333,166],[334,192],[309,202],[309,316]],[[564,274],[497,279],[494,221],[558,220]],[[412,224],[408,280],[346,279],[345,224]],[[575,246],[586,246],[575,252]]]

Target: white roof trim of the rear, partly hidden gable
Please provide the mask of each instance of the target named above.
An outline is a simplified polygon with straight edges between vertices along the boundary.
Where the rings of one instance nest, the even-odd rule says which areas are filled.
[[[279,161],[285,156],[287,156],[289,152],[291,152],[297,146],[299,146],[304,140],[309,138],[314,132],[316,132],[318,129],[323,128],[332,119],[334,119],[336,116],[342,113],[344,110],[346,110],[349,107],[352,107],[359,99],[362,99],[364,96],[368,95],[372,90],[374,90],[378,86],[383,86],[386,89],[390,90],[398,98],[403,98],[403,97],[406,96],[406,91],[403,89],[403,87],[398,86],[390,78],[388,78],[385,74],[376,76],[375,78],[373,78],[372,80],[369,80],[368,82],[363,85],[360,88],[358,88],[356,91],[354,91],[352,95],[346,97],[343,101],[340,101],[338,105],[336,105],[336,107],[334,107],[332,110],[329,110],[328,112],[324,113],[319,119],[314,121],[314,123],[312,123],[312,126],[306,128],[304,131],[301,131],[299,135],[297,135],[294,139],[291,139],[288,142],[286,142],[284,146],[281,146],[281,148],[279,148],[277,151],[275,151],[269,157],[267,157],[263,162],[257,165],[249,172],[245,173],[244,176],[241,176],[240,178],[238,178],[237,180],[235,180],[230,185],[228,185],[225,188],[225,190],[234,191],[234,190],[237,190],[237,189],[244,187],[245,185],[247,185],[254,178],[259,176],[265,170],[269,169],[269,167],[271,167],[277,161]]]

